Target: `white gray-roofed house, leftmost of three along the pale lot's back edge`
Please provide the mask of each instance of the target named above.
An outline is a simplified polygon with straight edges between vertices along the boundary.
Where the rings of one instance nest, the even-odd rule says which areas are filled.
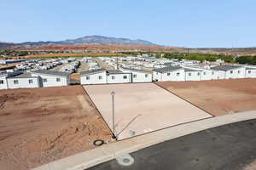
[[[81,84],[105,84],[107,83],[107,72],[105,69],[96,69],[80,72]]]

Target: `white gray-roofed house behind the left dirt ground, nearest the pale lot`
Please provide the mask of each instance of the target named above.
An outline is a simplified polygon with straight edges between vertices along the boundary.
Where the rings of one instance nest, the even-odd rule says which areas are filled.
[[[68,86],[70,73],[60,71],[38,70],[31,72],[32,77],[38,77],[40,87]]]

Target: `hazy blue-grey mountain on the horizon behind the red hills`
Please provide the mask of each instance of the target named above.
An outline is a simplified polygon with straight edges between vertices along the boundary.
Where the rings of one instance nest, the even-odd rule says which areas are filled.
[[[48,45],[48,44],[67,44],[67,45],[76,45],[76,44],[102,44],[102,45],[111,45],[111,44],[121,44],[121,45],[156,45],[153,42],[148,42],[141,39],[131,40],[128,38],[118,38],[118,37],[103,37],[103,36],[86,36],[79,37],[76,39],[68,39],[65,41],[59,42],[22,42],[20,45]]]

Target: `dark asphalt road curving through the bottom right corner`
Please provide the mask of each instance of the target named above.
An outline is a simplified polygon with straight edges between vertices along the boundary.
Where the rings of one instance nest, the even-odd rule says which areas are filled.
[[[131,156],[131,166],[112,160],[90,170],[255,170],[256,119],[155,144]]]

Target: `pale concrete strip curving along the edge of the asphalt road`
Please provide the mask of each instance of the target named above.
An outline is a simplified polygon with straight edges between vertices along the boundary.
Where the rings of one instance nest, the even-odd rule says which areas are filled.
[[[212,127],[219,127],[233,122],[256,119],[256,111],[246,111],[225,116],[215,116],[197,122],[185,123],[169,127],[153,133],[147,133],[131,139],[125,139],[113,144],[104,144],[94,150],[68,156],[58,161],[50,162],[32,170],[84,170],[99,163],[112,160],[126,153],[141,150],[153,144],[175,139],[190,133],[196,133]]]

